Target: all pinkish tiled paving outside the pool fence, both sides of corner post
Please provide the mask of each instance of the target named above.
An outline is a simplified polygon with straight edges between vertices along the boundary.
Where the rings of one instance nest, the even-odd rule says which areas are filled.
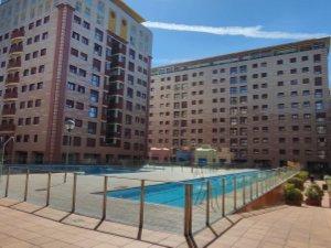
[[[49,209],[45,208],[45,211]],[[287,206],[247,213],[242,216],[234,215],[233,217],[235,218],[235,216],[242,220],[212,242],[210,248],[331,248],[331,208]],[[82,220],[75,216],[72,218]],[[236,222],[234,218],[232,223]],[[111,226],[117,224],[108,223],[107,225],[100,230],[119,228],[119,226]],[[129,231],[129,229],[122,229],[122,231]],[[143,231],[142,236],[149,242],[64,225],[0,206],[1,248],[188,247],[181,236],[175,237],[166,233],[148,230]],[[203,237],[200,239],[196,237],[199,245],[201,241],[203,242],[201,238]],[[156,242],[161,246],[152,245]]]

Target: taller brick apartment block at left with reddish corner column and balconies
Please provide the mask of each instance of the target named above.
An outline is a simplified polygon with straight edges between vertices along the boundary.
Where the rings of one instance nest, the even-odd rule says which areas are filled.
[[[0,17],[6,160],[145,158],[152,35],[137,12],[120,0],[8,0]]]

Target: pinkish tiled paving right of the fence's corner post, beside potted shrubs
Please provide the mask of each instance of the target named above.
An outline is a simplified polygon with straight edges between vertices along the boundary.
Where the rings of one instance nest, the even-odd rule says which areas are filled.
[[[331,208],[286,207],[244,218],[210,248],[331,248]]]

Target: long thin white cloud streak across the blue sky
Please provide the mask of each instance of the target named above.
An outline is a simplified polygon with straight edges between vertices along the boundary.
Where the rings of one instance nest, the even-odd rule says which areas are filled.
[[[182,31],[182,32],[199,32],[210,33],[216,35],[241,35],[245,37],[260,37],[260,39],[289,39],[289,40],[305,40],[313,37],[329,36],[327,33],[290,33],[280,31],[265,31],[261,25],[256,26],[205,26],[205,25],[185,25],[166,22],[143,23],[147,28]]]

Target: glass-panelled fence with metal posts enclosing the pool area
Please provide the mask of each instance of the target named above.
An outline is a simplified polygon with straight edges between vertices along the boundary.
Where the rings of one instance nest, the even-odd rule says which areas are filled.
[[[297,170],[246,171],[181,182],[68,172],[64,183],[63,173],[29,166],[7,168],[6,180],[0,184],[1,197],[99,218],[95,229],[105,220],[131,225],[137,227],[136,237],[141,239],[143,228],[183,233],[190,238],[280,185]],[[161,190],[156,191],[158,187]],[[136,192],[135,197],[111,195],[126,190]],[[170,196],[168,202],[163,201]],[[153,201],[158,197],[162,200],[160,203]]]

